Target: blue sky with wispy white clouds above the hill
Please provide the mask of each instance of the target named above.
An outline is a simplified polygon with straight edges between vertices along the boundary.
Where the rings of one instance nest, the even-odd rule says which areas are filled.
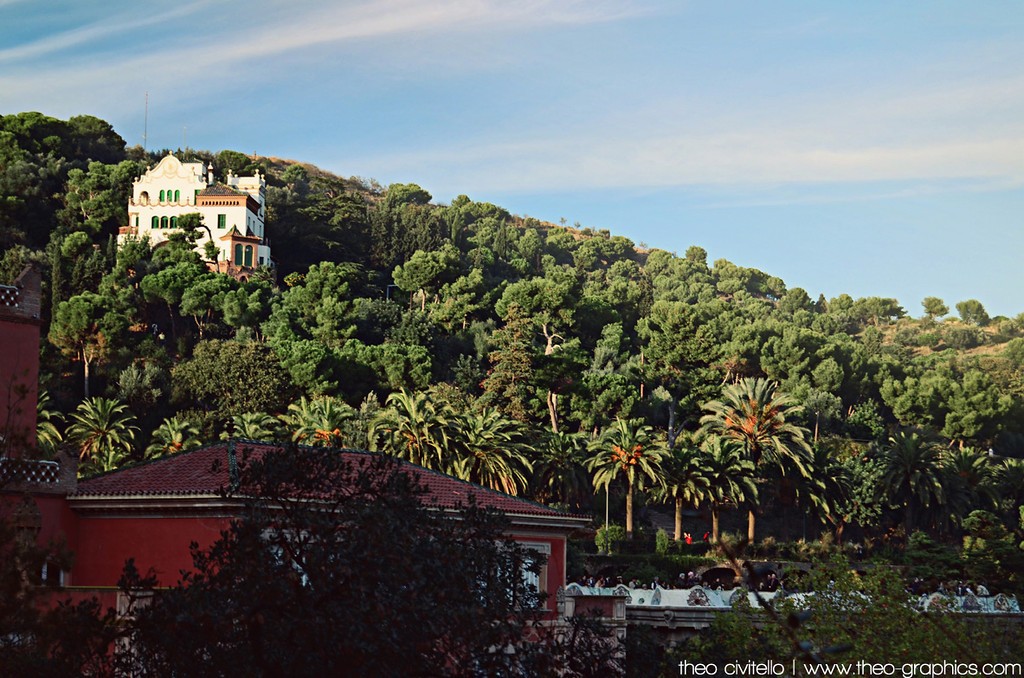
[[[1024,311],[1019,0],[0,0],[24,111]]]

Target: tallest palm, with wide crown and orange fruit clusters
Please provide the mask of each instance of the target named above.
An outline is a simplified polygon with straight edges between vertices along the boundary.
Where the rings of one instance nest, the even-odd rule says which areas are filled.
[[[722,389],[722,399],[706,402],[700,435],[735,440],[755,467],[776,466],[782,475],[794,470],[807,476],[811,447],[807,429],[786,421],[801,411],[796,399],[767,379],[740,379]],[[755,508],[748,511],[746,539],[754,541]]]

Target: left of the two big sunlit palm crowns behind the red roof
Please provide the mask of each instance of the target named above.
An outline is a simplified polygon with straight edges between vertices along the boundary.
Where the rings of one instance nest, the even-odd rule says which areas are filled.
[[[370,425],[370,449],[399,457],[424,468],[451,467],[449,431],[455,414],[428,394],[401,391],[387,397],[386,408]]]

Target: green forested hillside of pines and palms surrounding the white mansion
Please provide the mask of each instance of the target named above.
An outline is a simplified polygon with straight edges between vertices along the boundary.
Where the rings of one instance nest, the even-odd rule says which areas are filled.
[[[178,152],[218,176],[266,174],[278,268],[239,282],[208,272],[188,232],[118,250],[131,183],[166,153],[128,149],[91,117],[0,117],[0,278],[44,270],[40,440],[46,454],[75,446],[86,470],[282,436],[586,507],[602,451],[649,446],[656,468],[635,483],[624,473],[631,490],[618,492],[647,478],[671,501],[688,480],[670,460],[701,444],[701,468],[713,458],[706,404],[765,378],[810,451],[788,495],[765,489],[773,460],[750,459],[762,507],[941,532],[972,508],[1009,520],[1024,496],[1020,462],[1000,459],[1024,456],[1024,313],[814,298],[709,262],[697,231],[682,255],[640,250],[466,196],[438,205],[416,184]],[[914,462],[932,464],[931,495],[900,484],[907,448],[931,455]],[[768,465],[785,476],[784,459]],[[735,489],[708,499],[713,484],[697,481],[687,503],[742,503]],[[853,496],[865,486],[889,495]]]

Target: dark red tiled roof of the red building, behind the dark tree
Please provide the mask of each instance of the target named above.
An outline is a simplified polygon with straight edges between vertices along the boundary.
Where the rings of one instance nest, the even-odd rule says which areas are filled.
[[[260,442],[238,441],[234,450],[226,442],[211,444],[190,452],[163,457],[135,466],[97,475],[79,481],[73,498],[128,498],[128,497],[182,497],[214,496],[230,482],[229,468],[234,464],[234,454],[259,454],[279,449]],[[375,453],[352,450],[338,454],[353,460],[366,459]],[[477,506],[492,508],[512,515],[579,520],[574,516],[518,497],[511,497],[487,488],[425,469],[415,464],[400,462],[426,491],[424,503],[440,509],[464,506],[472,497]]]

